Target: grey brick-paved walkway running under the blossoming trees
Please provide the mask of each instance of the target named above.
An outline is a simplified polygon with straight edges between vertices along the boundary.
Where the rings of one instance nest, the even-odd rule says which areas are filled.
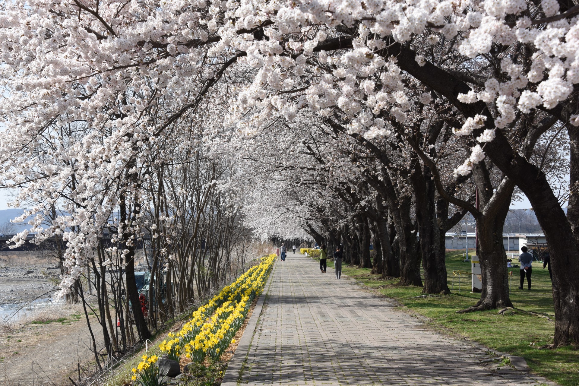
[[[252,385],[538,385],[479,362],[482,348],[426,329],[353,280],[288,253],[276,262],[241,370]],[[248,332],[246,330],[245,332]]]

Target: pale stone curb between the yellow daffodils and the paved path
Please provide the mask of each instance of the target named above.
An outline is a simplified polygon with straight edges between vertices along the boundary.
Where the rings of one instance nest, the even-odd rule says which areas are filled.
[[[227,370],[225,370],[225,374],[223,375],[223,380],[221,381],[221,386],[237,386],[237,378],[239,377],[239,372],[241,370],[241,366],[243,366],[243,362],[245,361],[245,357],[247,353],[250,351],[251,341],[253,340],[255,327],[257,326],[257,322],[259,317],[261,316],[261,311],[263,309],[263,302],[265,302],[265,296],[267,290],[269,289],[269,285],[272,281],[273,277],[273,270],[276,269],[276,264],[274,264],[272,271],[269,273],[269,277],[267,278],[267,282],[263,286],[263,292],[259,295],[259,299],[255,304],[255,308],[253,313],[251,314],[250,321],[247,322],[247,326],[245,326],[245,330],[243,331],[243,335],[239,340],[239,344],[235,350],[235,353],[229,359],[229,363],[227,365]]]

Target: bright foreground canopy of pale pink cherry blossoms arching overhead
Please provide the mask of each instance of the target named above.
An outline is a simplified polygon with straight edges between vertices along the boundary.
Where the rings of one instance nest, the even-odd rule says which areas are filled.
[[[476,68],[493,45],[504,47],[498,75],[453,95],[493,106],[492,122],[464,116],[456,130],[473,135],[484,124],[473,139],[492,141],[495,129],[554,109],[579,83],[579,18],[562,11],[555,0],[3,2],[0,181],[19,188],[13,205],[29,204],[20,219],[31,218],[12,241],[34,232],[67,242],[67,292],[110,222],[119,239],[139,237],[137,215],[111,218],[122,199],[148,204],[139,187],[173,150],[200,141],[219,154],[223,142],[256,138],[274,122],[291,130],[304,111],[311,122],[338,115],[348,134],[389,139],[437,103],[408,71],[434,65],[436,50]],[[415,50],[405,69],[394,43]],[[516,59],[523,46],[529,65]],[[218,133],[193,138],[207,122],[199,116],[214,116]],[[484,156],[473,148],[471,164]]]

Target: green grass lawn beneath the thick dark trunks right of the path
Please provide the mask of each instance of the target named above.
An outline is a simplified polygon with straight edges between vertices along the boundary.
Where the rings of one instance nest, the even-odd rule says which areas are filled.
[[[372,275],[369,269],[342,266],[342,273],[430,318],[434,328],[477,341],[499,352],[522,356],[533,372],[560,385],[579,385],[579,350],[570,347],[539,349],[553,342],[554,322],[518,311],[505,315],[498,315],[497,310],[456,313],[480,298],[479,293],[471,293],[470,275],[453,275],[453,271],[458,270],[470,272],[470,263],[463,262],[463,255],[463,251],[446,254],[448,284],[452,291],[446,296],[415,297],[422,295],[422,288],[397,286],[397,279],[380,280],[379,275]],[[330,267],[333,271],[334,263],[328,261],[328,272]],[[543,264],[533,263],[532,291],[518,289],[519,269],[509,270],[513,272],[510,282],[514,306],[525,311],[547,313],[554,319],[551,280],[549,272],[543,270]]]

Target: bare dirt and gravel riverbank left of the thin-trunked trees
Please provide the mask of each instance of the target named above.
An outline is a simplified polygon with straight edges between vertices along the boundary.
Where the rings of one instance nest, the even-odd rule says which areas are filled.
[[[0,252],[0,386],[70,385],[78,363],[94,362],[81,304],[30,303],[51,298],[60,282],[60,270],[51,269],[56,264],[42,257]],[[5,321],[22,306],[28,311],[20,319]],[[100,348],[102,334],[96,320],[92,324]]]

